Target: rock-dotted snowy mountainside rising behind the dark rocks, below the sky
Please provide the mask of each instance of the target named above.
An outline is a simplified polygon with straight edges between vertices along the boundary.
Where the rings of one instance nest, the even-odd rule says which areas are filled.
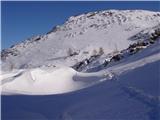
[[[152,31],[159,23],[160,12],[144,10],[106,10],[72,16],[46,35],[3,50],[2,69],[73,66],[100,47],[107,54],[144,40],[138,36],[145,37],[145,31]],[[76,55],[69,56],[69,49]]]

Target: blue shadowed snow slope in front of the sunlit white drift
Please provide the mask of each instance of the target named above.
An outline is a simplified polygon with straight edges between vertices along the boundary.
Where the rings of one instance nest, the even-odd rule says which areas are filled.
[[[159,120],[159,46],[160,42],[157,41],[118,64],[92,74],[94,78],[95,75],[112,74],[112,77],[103,81],[95,79],[99,84],[92,87],[58,95],[2,96],[2,118]],[[70,75],[75,72],[70,69],[69,71],[65,73]],[[62,75],[59,72],[55,76],[59,76],[58,74]],[[75,77],[81,78],[78,81],[92,82],[93,80],[88,79],[86,74],[89,73],[85,73],[85,75],[78,73]],[[41,76],[41,74],[39,75]],[[70,77],[68,81],[70,81]],[[10,82],[10,84],[12,87],[14,83]],[[18,83],[16,85],[17,88],[21,86]],[[55,86],[52,87],[54,89]],[[23,94],[26,93],[23,91]]]

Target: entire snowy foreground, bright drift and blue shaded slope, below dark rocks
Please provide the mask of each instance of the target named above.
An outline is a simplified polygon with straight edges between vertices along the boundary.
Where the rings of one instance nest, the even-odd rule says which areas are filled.
[[[158,120],[159,45],[99,72],[62,67],[4,74],[2,93],[28,95],[2,96],[2,118]]]

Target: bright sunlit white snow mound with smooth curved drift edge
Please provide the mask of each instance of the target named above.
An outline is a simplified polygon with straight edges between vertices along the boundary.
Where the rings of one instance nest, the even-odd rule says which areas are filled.
[[[1,75],[2,94],[61,94],[91,86],[105,76],[72,68],[30,69]]]

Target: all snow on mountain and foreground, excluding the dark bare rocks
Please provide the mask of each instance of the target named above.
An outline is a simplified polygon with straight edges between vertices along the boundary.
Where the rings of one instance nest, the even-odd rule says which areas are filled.
[[[2,118],[158,120],[160,39],[133,55],[125,52],[147,41],[159,20],[159,12],[144,10],[90,12],[10,48],[18,54],[1,64]],[[95,23],[98,28],[89,27]],[[82,71],[71,67],[100,47],[105,54]],[[69,48],[79,54],[68,56]],[[122,60],[100,66],[117,50]]]

